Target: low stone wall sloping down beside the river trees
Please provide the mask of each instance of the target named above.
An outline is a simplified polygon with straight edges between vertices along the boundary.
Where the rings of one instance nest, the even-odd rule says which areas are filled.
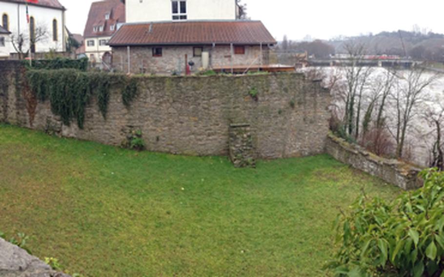
[[[422,186],[422,181],[418,178],[420,168],[396,159],[381,158],[331,133],[326,142],[326,152],[345,164],[395,184],[404,190]]]

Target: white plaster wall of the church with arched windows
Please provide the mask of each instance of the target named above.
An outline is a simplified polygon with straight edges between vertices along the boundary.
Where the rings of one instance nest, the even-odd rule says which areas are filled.
[[[29,16],[34,17],[36,27],[45,26],[47,29],[47,37],[36,43],[36,52],[49,52],[50,49],[55,49],[57,52],[63,52],[65,49],[65,42],[63,41],[63,11],[58,9],[51,9],[29,5]],[[29,24],[26,21],[26,5],[18,3],[9,3],[0,1],[0,17],[7,14],[9,17],[9,31],[12,35],[19,33],[26,34],[29,38]],[[58,28],[58,40],[53,41],[52,21],[56,19]],[[0,23],[1,24],[1,23]],[[29,40],[28,40],[29,41]],[[9,49],[14,53],[15,50],[9,40]],[[26,49],[29,45],[26,46]]]

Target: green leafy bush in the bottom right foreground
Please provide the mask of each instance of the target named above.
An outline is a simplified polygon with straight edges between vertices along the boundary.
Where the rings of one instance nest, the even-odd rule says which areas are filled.
[[[421,173],[424,187],[387,203],[365,195],[336,221],[336,276],[443,276],[444,173]]]

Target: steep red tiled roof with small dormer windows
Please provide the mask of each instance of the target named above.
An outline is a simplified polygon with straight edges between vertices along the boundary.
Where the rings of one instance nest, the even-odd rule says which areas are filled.
[[[109,13],[109,19],[105,20],[105,15]],[[125,22],[125,5],[121,0],[104,0],[100,2],[93,2],[88,14],[84,38],[94,37],[111,37],[117,30],[115,26],[114,31],[110,30],[110,26],[117,23]],[[103,26],[103,31],[99,32],[99,27]],[[94,27],[97,27],[97,32],[94,32]]]

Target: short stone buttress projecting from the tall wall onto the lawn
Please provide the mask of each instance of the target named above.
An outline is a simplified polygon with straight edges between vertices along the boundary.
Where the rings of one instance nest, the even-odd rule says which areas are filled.
[[[249,124],[230,124],[230,159],[235,167],[256,167]]]

